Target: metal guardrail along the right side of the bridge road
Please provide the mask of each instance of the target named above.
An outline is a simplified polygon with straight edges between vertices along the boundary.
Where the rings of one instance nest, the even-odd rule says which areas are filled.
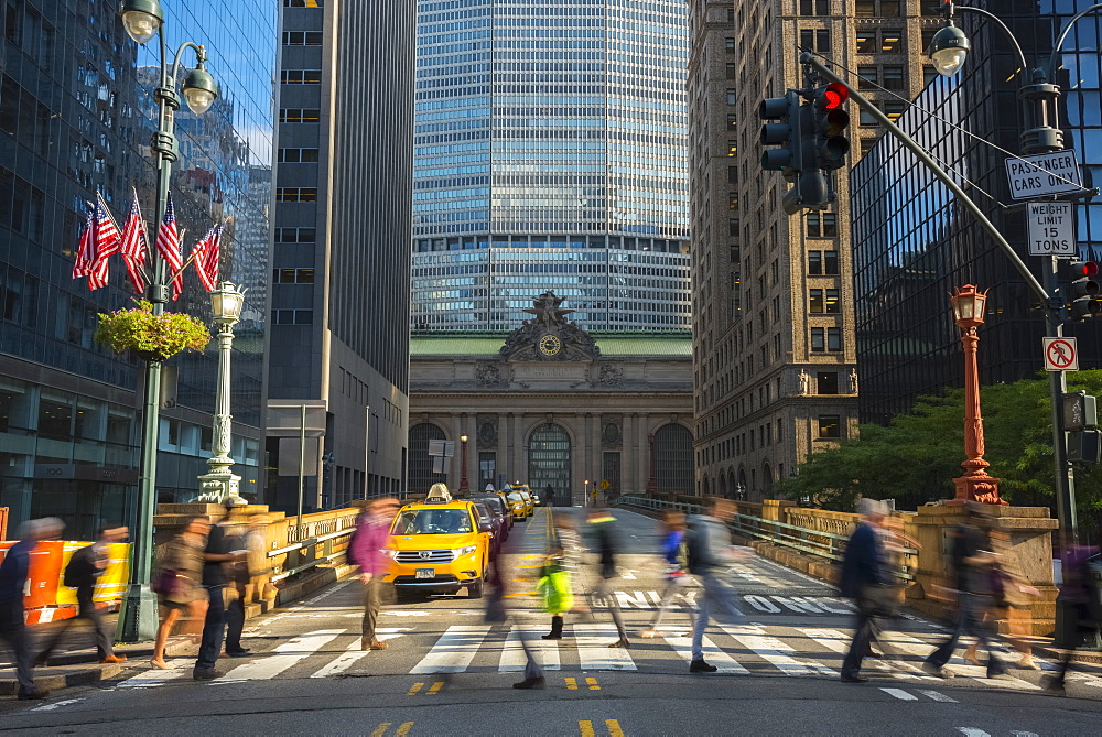
[[[638,507],[650,511],[676,509],[685,514],[698,514],[701,510],[700,505],[663,501],[646,497],[620,497],[614,503],[618,507]],[[744,538],[764,540],[781,548],[790,548],[801,553],[809,553],[835,563],[842,561],[845,553],[845,544],[850,540],[849,535],[838,534],[836,532],[798,527],[777,520],[767,520],[754,514],[735,514],[728,527],[732,532]],[[903,561],[895,572],[896,576],[904,581],[914,581],[915,563],[917,562],[914,556],[918,555],[918,550],[915,548],[903,548],[899,552],[903,554]]]

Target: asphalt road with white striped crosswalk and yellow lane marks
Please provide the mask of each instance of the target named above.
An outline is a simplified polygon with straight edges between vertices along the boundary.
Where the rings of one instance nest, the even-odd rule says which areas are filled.
[[[576,513],[580,510],[555,510]],[[45,703],[0,702],[0,730],[19,734],[368,734],[403,735],[1096,735],[1102,678],[1078,675],[1069,696],[1044,694],[1041,673],[987,680],[959,659],[958,675],[918,668],[944,637],[905,619],[867,660],[866,684],[838,680],[850,607],[829,585],[769,561],[736,566],[745,619],[709,630],[715,674],[688,672],[689,617],[671,614],[661,637],[638,637],[661,590],[655,522],[617,511],[625,544],[617,598],[629,650],[609,649],[607,615],[568,617],[566,637],[540,639],[532,577],[547,549],[548,510],[506,542],[512,620],[485,624],[478,600],[460,594],[390,605],[380,615],[389,649],[358,650],[359,590],[342,582],[249,622],[252,655],[223,660],[226,675],[191,680],[136,663],[120,678],[71,689]],[[689,598],[693,592],[688,592]],[[517,638],[539,648],[547,689],[516,691]],[[1050,666],[1049,663],[1045,665]]]

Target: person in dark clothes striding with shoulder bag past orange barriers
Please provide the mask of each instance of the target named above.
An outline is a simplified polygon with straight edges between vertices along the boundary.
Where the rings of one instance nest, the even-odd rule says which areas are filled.
[[[65,566],[62,583],[76,588],[77,614],[76,617],[66,619],[51,637],[46,638],[39,651],[37,661],[40,663],[45,663],[48,660],[62,636],[77,619],[86,619],[91,622],[99,662],[121,663],[127,659],[126,655],[119,655],[115,652],[112,646],[114,628],[104,618],[102,613],[96,608],[95,593],[96,579],[104,575],[104,571],[107,570],[108,545],[126,542],[129,534],[127,525],[121,522],[110,522],[99,529],[99,534],[94,543],[73,553],[68,565]]]

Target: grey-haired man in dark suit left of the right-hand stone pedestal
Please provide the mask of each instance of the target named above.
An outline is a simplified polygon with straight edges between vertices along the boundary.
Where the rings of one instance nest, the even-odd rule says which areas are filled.
[[[875,499],[862,499],[857,511],[863,519],[845,546],[839,582],[842,596],[853,599],[857,608],[853,641],[842,661],[841,676],[845,683],[868,681],[861,674],[861,661],[869,654],[872,640],[880,628],[879,620],[890,615],[895,593],[882,534],[887,509]]]

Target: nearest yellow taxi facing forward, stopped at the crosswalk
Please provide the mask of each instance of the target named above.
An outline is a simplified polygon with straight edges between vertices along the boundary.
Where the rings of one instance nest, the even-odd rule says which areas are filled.
[[[453,500],[435,485],[424,501],[398,510],[387,550],[382,581],[402,596],[457,594],[480,598],[490,551],[488,524],[479,524],[474,502]]]

